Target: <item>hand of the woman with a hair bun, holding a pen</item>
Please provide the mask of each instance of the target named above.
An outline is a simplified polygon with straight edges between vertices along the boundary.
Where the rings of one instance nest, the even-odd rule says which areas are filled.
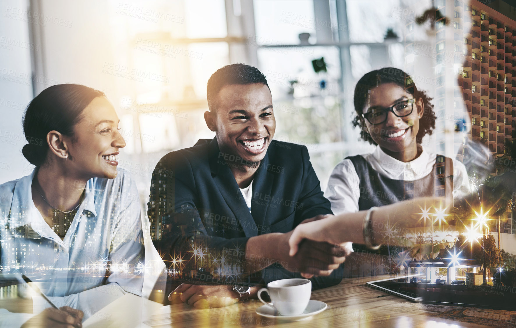
[[[45,308],[40,314],[30,318],[22,328],[49,327],[49,328],[81,328],[83,326],[83,311],[69,306],[61,308]]]

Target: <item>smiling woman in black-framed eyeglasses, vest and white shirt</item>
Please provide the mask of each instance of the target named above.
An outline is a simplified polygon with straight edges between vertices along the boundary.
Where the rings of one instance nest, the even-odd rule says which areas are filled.
[[[422,145],[436,125],[431,98],[407,73],[371,71],[354,91],[356,117],[372,153],[350,156],[334,168],[325,192],[335,215],[417,197],[457,197],[469,193],[464,165]]]

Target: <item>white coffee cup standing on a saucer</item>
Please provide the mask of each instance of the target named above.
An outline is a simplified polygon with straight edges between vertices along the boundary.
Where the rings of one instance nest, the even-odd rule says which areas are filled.
[[[262,291],[267,291],[271,303],[262,300]],[[303,313],[307,308],[312,294],[312,282],[308,279],[282,279],[270,282],[267,288],[258,291],[258,298],[262,303],[277,310],[282,316],[295,316]]]

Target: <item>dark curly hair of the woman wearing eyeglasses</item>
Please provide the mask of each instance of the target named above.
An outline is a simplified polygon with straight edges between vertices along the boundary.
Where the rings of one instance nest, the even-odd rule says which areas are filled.
[[[371,90],[384,84],[394,83],[401,88],[404,88],[408,93],[414,95],[415,99],[422,99],[424,104],[423,117],[420,119],[420,128],[416,135],[416,142],[421,143],[422,139],[426,135],[431,135],[433,129],[436,128],[436,113],[433,111],[432,100],[425,91],[418,90],[414,84],[414,80],[410,75],[404,71],[393,68],[385,67],[382,69],[370,71],[364,74],[357,82],[357,86],[354,90],[353,104],[356,111],[356,115],[353,118],[353,127],[360,127],[360,139],[368,141],[376,145],[377,143],[373,140],[367,127],[365,125],[364,118],[362,117],[364,105],[367,101],[367,97],[371,93]]]

